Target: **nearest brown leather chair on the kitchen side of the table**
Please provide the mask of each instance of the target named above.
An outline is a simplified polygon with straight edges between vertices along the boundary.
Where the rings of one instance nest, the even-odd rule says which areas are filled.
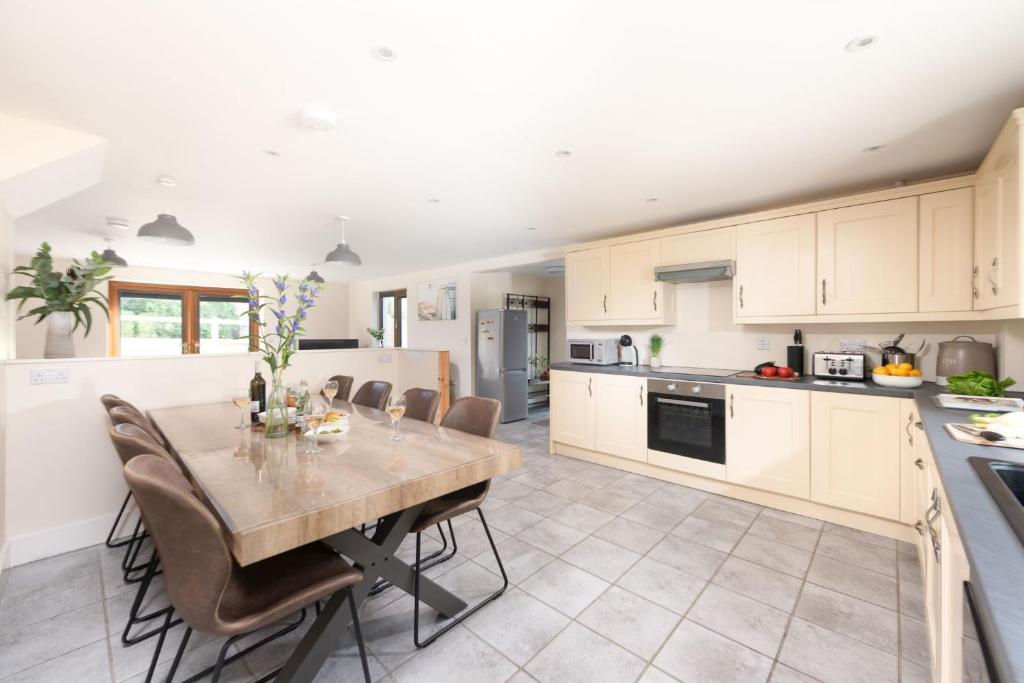
[[[441,419],[441,427],[468,432],[470,434],[476,434],[477,436],[484,436],[486,438],[494,438],[495,430],[498,428],[498,419],[501,417],[501,401],[495,400],[494,398],[482,398],[480,396],[465,396],[452,403],[452,408]],[[410,529],[411,533],[416,533],[416,564],[413,565],[416,572],[416,581],[414,583],[415,588],[413,591],[413,598],[415,602],[415,609],[413,610],[413,642],[416,643],[417,647],[426,647],[430,643],[434,642],[440,636],[444,635],[457,625],[462,623],[465,618],[476,612],[476,610],[480,609],[480,607],[483,607],[492,600],[497,599],[498,596],[504,593],[509,586],[509,578],[508,574],[505,573],[505,566],[502,564],[502,558],[498,554],[498,547],[495,545],[495,540],[490,536],[490,528],[487,526],[487,520],[483,517],[483,511],[480,510],[480,504],[482,504],[484,499],[487,497],[487,492],[489,489],[490,480],[487,479],[486,481],[474,483],[471,486],[466,486],[465,488],[447,494],[446,496],[428,501],[427,504],[423,506],[420,516],[416,519],[413,523],[413,527]],[[487,541],[490,543],[490,550],[494,552],[495,560],[498,562],[498,568],[502,572],[502,587],[488,595],[486,598],[482,599],[473,607],[463,609],[459,612],[459,616],[452,620],[451,623],[446,624],[443,628],[435,631],[430,637],[421,641],[420,573],[438,562],[451,559],[455,555],[458,551],[458,546],[455,541],[455,528],[452,526],[452,519],[454,517],[458,517],[459,515],[466,514],[467,512],[472,512],[473,510],[475,510],[476,514],[480,517],[480,523],[483,525],[483,532],[487,535]],[[428,565],[421,566],[422,558],[420,557],[420,541],[422,533],[430,526],[441,522],[447,522],[449,533],[452,535],[452,545],[454,549],[450,555],[439,558]]]

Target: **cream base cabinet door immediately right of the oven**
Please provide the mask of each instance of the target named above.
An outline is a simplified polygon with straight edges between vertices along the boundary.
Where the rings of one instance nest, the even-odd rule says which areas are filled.
[[[726,478],[810,498],[810,391],[731,385],[726,396]]]

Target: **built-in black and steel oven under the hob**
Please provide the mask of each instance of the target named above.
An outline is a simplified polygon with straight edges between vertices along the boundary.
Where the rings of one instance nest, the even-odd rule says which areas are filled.
[[[647,447],[725,464],[725,385],[647,380]]]

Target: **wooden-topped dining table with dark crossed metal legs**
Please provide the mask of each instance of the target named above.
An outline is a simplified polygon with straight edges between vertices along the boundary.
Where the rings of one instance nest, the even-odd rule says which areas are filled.
[[[223,525],[236,561],[246,566],[308,543],[324,542],[362,571],[353,589],[358,606],[378,579],[409,594],[413,568],[396,551],[423,505],[522,464],[510,443],[404,419],[404,438],[391,440],[383,411],[334,401],[348,415],[348,431],[321,439],[323,453],[304,453],[301,436],[265,438],[236,429],[229,402],[150,411],[170,450]],[[381,522],[372,536],[356,527]],[[466,603],[427,577],[420,599],[445,616]],[[312,681],[341,642],[350,621],[344,593],[321,610],[278,681]]]

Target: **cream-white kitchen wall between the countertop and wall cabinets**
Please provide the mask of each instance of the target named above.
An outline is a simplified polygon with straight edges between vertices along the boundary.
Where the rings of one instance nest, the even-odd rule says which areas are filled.
[[[648,337],[657,332],[665,337],[662,358],[669,366],[693,366],[703,368],[726,368],[752,370],[759,362],[774,360],[785,364],[785,347],[793,343],[793,325],[733,325],[732,324],[732,283],[728,281],[676,285],[676,325],[663,328],[630,327],[581,328],[571,326],[567,330],[570,338],[586,339],[617,338],[622,334],[633,337],[640,348],[640,361],[646,364],[650,357]],[[1019,322],[1015,322],[1019,323]],[[935,379],[935,353],[937,342],[952,339],[956,335],[972,335],[978,341],[997,343],[1000,337],[1000,323],[830,323],[803,325],[804,346],[807,351],[805,362],[810,364],[812,351],[839,349],[840,339],[862,339],[868,344],[877,344],[892,339],[900,332],[906,333],[904,348],[916,346],[922,339],[927,341],[925,351],[919,359],[919,367],[929,380]],[[1009,326],[1016,333],[1019,348],[1024,350],[1024,325]],[[1010,339],[1011,337],[1005,338]],[[767,351],[759,351],[757,341],[766,338],[770,344]],[[1021,353],[1016,358],[1005,360],[1011,369],[1020,368]],[[873,356],[878,361],[878,354]],[[999,371],[1006,374],[1002,370]],[[1020,373],[1020,370],[1016,372]],[[1024,375],[1021,377],[1024,384]]]

